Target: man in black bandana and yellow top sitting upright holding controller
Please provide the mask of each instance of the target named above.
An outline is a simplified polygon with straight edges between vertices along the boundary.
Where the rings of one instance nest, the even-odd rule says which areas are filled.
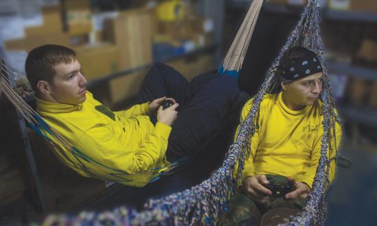
[[[295,47],[282,56],[278,73],[282,90],[265,95],[260,104],[241,190],[228,203],[229,225],[286,223],[290,215],[300,212],[313,186],[324,135],[323,103],[319,99],[322,67],[315,53]],[[252,104],[253,99],[243,107],[241,122]],[[337,150],[342,131],[338,123],[335,128],[331,146]],[[330,181],[335,176],[336,150],[328,151]],[[286,188],[283,194],[271,188],[276,184]]]

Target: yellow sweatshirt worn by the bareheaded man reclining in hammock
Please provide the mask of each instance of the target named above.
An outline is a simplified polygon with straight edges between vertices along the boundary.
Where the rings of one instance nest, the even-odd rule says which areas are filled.
[[[54,154],[80,175],[145,186],[152,170],[167,163],[171,127],[151,123],[148,103],[112,112],[90,92],[80,105],[36,101],[38,114],[77,149],[52,138]]]

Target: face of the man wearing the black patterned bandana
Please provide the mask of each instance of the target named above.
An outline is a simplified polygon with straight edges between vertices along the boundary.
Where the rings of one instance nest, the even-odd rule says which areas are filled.
[[[313,105],[322,92],[323,76],[323,73],[316,73],[292,81],[290,84],[282,84],[284,95],[297,107]]]

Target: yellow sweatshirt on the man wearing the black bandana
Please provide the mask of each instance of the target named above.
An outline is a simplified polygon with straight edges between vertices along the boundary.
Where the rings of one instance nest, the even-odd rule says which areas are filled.
[[[245,103],[241,122],[250,112],[252,101],[253,99],[250,99]],[[311,106],[294,111],[282,101],[282,92],[265,95],[260,104],[259,127],[252,137],[252,153],[250,158],[245,160],[242,179],[251,175],[283,175],[291,176],[312,187],[324,134],[322,105],[323,103],[317,100]],[[236,135],[238,131],[239,128]],[[332,147],[336,148],[333,148],[330,155],[330,181],[335,177],[334,160],[342,133],[338,123],[335,131],[336,138],[331,140]]]

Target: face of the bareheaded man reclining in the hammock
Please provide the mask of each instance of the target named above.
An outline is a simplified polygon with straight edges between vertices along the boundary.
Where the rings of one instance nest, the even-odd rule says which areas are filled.
[[[50,95],[58,103],[80,104],[86,99],[86,79],[77,60],[56,64],[55,76],[49,84]]]

